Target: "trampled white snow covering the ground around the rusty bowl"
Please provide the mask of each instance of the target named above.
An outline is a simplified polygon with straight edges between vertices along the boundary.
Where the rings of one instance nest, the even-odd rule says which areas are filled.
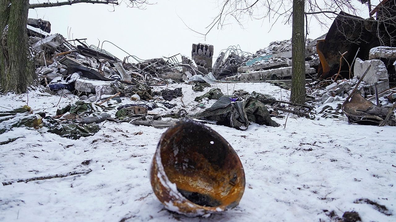
[[[204,92],[194,92],[187,84],[154,90],[166,87],[183,87],[188,113],[202,111],[194,98]],[[278,100],[289,98],[289,91],[268,83],[218,83],[212,87],[221,88],[224,94],[244,89]],[[181,108],[179,100],[171,101],[178,104],[176,109]],[[54,115],[56,109],[76,101],[78,97],[73,95],[48,96],[35,90],[1,96],[0,109],[29,105]],[[210,107],[214,102],[209,100],[205,105]],[[246,175],[239,205],[206,215],[208,218],[170,213],[152,192],[148,171],[166,129],[106,121],[95,135],[71,140],[45,128],[13,128],[0,134],[0,141],[21,137],[0,146],[0,182],[92,171],[0,185],[0,221],[334,221],[326,215],[331,211],[339,217],[345,211],[356,211],[363,222],[396,221],[395,127],[362,126],[321,117],[273,119],[281,126],[251,124],[242,131],[207,124],[235,149]],[[82,164],[85,160],[91,160],[88,166]],[[367,203],[354,203],[362,198],[385,205],[392,215],[386,216]]]

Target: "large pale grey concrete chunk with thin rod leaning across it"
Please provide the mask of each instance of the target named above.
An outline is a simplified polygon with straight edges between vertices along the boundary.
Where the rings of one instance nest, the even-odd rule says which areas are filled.
[[[385,64],[378,59],[363,61],[360,58],[356,58],[354,65],[354,76],[361,77],[370,64],[371,68],[363,78],[363,81],[365,81],[367,84],[373,84],[379,82],[379,79],[389,79],[388,70],[386,70]],[[377,85],[377,88],[379,92],[387,90],[389,88],[389,81]],[[374,90],[374,86],[371,87],[371,90]]]

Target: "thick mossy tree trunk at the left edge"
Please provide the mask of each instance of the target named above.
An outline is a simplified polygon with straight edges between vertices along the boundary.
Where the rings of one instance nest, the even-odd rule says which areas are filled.
[[[26,31],[29,1],[0,0],[0,4],[1,90],[23,93],[37,78]]]

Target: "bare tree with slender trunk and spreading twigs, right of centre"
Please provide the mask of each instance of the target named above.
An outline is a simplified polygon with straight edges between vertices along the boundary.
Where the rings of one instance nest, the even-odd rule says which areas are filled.
[[[362,0],[363,1],[363,0]],[[371,3],[369,3],[371,4]],[[371,5],[370,5],[371,7]],[[219,1],[219,14],[207,27],[223,28],[230,19],[242,25],[246,19],[268,19],[272,25],[278,21],[292,23],[292,88],[291,102],[305,103],[305,38],[308,34],[308,16],[323,25],[324,18],[332,19],[338,11],[357,14],[358,7],[349,0],[223,0]],[[304,22],[305,17],[305,22]],[[305,31],[304,31],[305,29]],[[304,32],[306,34],[304,35]],[[206,35],[205,34],[205,35]]]

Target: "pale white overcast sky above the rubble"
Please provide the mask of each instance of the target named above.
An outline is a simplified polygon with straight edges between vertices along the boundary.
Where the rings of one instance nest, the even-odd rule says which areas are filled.
[[[30,3],[37,2],[46,1],[30,0]],[[158,0],[157,4],[149,5],[145,10],[127,8],[125,5],[113,8],[105,4],[80,3],[29,9],[29,17],[50,21],[51,34],[59,33],[69,40],[87,38],[88,45],[96,46],[99,41],[111,41],[142,59],[169,57],[178,53],[191,56],[192,43],[213,45],[215,56],[231,45],[239,45],[243,51],[254,53],[267,47],[271,41],[291,38],[291,25],[277,23],[270,30],[268,19],[245,21],[244,28],[230,24],[223,30],[214,29],[206,39],[183,24],[184,21],[190,28],[206,32],[205,27],[219,12],[216,2]],[[311,24],[308,38],[314,39],[326,32],[326,29]],[[103,49],[120,59],[127,55],[108,42],[103,43]]]

